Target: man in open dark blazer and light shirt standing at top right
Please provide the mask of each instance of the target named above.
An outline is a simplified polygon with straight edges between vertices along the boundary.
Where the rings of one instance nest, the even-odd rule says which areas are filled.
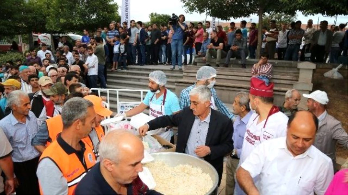
[[[315,31],[312,36],[310,60],[312,62],[324,62],[324,56],[330,53],[333,33],[327,29],[327,21],[320,23],[320,29]]]

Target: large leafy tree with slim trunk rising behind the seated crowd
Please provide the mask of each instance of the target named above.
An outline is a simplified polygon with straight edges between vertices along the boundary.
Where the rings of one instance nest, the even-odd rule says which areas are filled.
[[[300,0],[298,0],[300,1]],[[311,0],[307,0],[311,1]],[[314,0],[313,0],[314,1]],[[272,12],[284,12],[285,14],[294,15],[299,8],[291,4],[290,0],[181,0],[188,12],[206,13],[223,20],[229,20],[231,17],[249,17],[252,14],[259,16],[259,24],[262,24],[264,14]],[[258,27],[259,32],[262,26]],[[258,34],[257,54],[259,57],[261,51],[261,33]]]

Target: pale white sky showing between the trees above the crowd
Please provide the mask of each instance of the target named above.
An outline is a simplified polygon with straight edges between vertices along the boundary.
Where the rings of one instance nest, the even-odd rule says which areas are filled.
[[[117,2],[119,7],[121,8],[122,0],[114,0]],[[158,14],[168,14],[172,15],[175,13],[176,15],[184,14],[186,20],[189,21],[204,21],[205,20],[205,14],[198,14],[198,13],[192,13],[188,14],[185,13],[185,8],[183,8],[183,3],[180,0],[129,0],[130,1],[130,18],[134,19],[135,21],[141,20],[142,22],[149,22],[150,18],[149,15],[151,12],[157,12]],[[169,5],[170,4],[170,5]],[[156,6],[157,5],[157,6]],[[119,8],[119,14],[121,15]],[[303,16],[301,12],[297,13],[297,20],[301,20],[302,23],[306,23],[308,19],[313,19],[313,23],[317,24],[321,20],[327,20],[329,24],[334,24],[334,17],[324,17],[323,15],[313,15],[313,16]],[[208,16],[207,20],[211,20],[211,17]],[[242,20],[246,20],[247,22],[257,23],[258,22],[258,16],[252,15],[248,18],[231,18],[230,21],[221,21],[219,22],[240,22]],[[348,16],[338,16],[337,23],[346,23],[348,22]]]

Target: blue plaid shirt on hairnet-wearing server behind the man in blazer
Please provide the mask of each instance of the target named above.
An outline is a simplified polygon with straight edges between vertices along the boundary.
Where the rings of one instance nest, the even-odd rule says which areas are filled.
[[[196,87],[196,84],[191,85],[181,91],[180,102],[179,102],[181,110],[184,109],[185,107],[190,106],[190,91],[195,87]],[[212,96],[214,98],[217,110],[219,110],[219,112],[226,115],[229,119],[232,119],[234,115],[229,111],[227,106],[219,99],[219,97],[217,97],[215,89],[211,88],[210,91],[212,92]]]

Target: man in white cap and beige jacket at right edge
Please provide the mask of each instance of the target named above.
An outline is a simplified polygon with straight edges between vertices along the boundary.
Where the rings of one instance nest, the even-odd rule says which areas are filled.
[[[342,128],[341,122],[327,113],[325,106],[329,102],[329,98],[326,92],[317,90],[311,94],[303,94],[303,97],[308,98],[308,110],[319,120],[314,146],[331,158],[334,171],[336,171],[336,145],[339,143],[348,148],[348,135]]]

